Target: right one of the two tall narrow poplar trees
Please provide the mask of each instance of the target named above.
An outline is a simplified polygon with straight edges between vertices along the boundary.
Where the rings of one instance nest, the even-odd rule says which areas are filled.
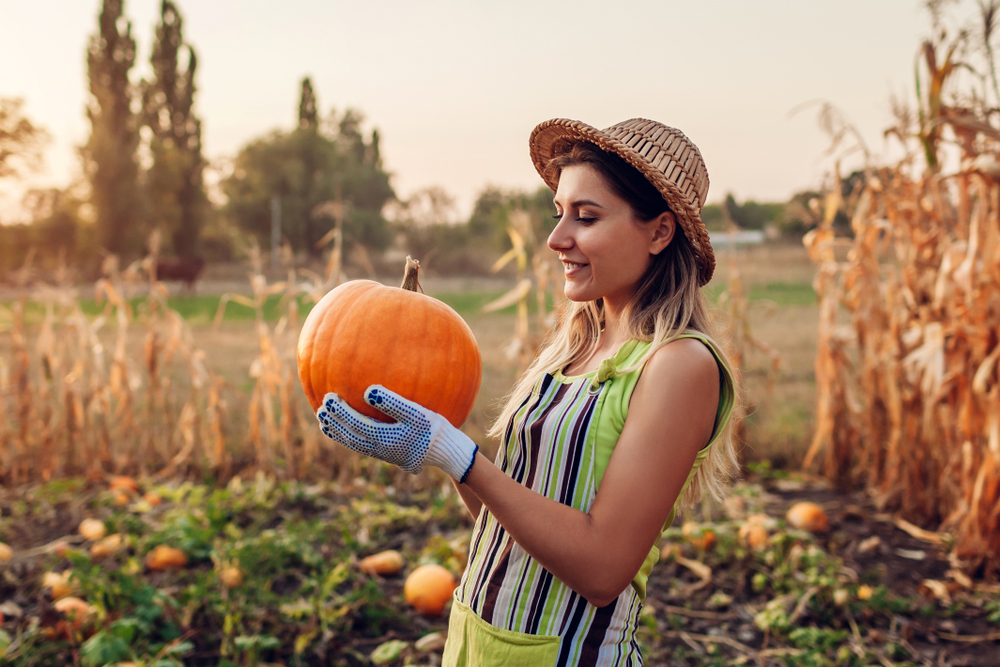
[[[153,78],[142,85],[142,122],[152,131],[153,164],[146,175],[150,222],[169,234],[174,253],[192,258],[208,200],[201,120],[194,113],[198,57],[184,43],[183,26],[177,6],[163,0],[150,58]]]

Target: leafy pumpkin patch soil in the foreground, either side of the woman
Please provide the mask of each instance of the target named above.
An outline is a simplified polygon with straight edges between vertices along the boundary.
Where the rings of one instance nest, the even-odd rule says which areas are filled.
[[[428,563],[459,575],[471,519],[438,471],[413,492],[383,472],[224,488],[140,480],[124,500],[81,480],[7,490],[0,651],[38,667],[439,664],[446,617],[407,605],[403,582]],[[946,572],[945,544],[894,526],[863,496],[755,479],[661,541],[639,636],[648,664],[995,664],[998,589]],[[802,496],[821,503],[825,530],[786,520]],[[78,534],[84,519],[119,536],[114,548]],[[159,565],[157,547],[183,558]],[[361,570],[385,549],[402,555],[401,571]],[[84,601],[76,628],[53,605],[69,597]]]

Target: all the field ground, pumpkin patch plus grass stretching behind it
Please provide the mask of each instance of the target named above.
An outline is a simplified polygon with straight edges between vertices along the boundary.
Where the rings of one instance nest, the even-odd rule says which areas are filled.
[[[124,496],[109,489],[104,475],[23,484],[0,495],[0,541],[13,548],[0,581],[0,644],[9,640],[11,664],[439,664],[446,617],[410,609],[403,578],[426,562],[460,573],[471,520],[436,470],[401,476],[325,439],[315,439],[314,450],[307,441],[265,458],[254,453],[248,406],[261,385],[249,369],[261,355],[260,323],[252,308],[236,302],[216,322],[221,294],[250,293],[239,278],[243,270],[217,269],[198,295],[175,293],[167,301],[188,327],[187,344],[203,351],[205,366],[221,379],[228,476],[192,464],[141,477],[140,488]],[[952,569],[948,535],[920,531],[877,511],[864,494],[834,493],[796,471],[816,396],[818,308],[804,249],[720,252],[708,287],[716,302],[724,303],[732,270],[749,298],[753,336],[780,363],[774,371],[770,357],[755,353],[744,365],[747,479],[724,506],[680,519],[660,544],[663,562],[650,580],[640,637],[647,664],[995,664],[1000,591]],[[465,317],[483,352],[483,385],[464,429],[487,449],[483,432],[516,375],[503,353],[514,313],[481,309],[512,285],[502,278],[423,280],[427,293]],[[4,313],[19,296],[0,294],[0,318],[8,318],[0,319],[0,331],[11,330]],[[297,298],[301,318],[309,304]],[[104,312],[89,288],[77,299],[88,317]],[[137,312],[143,301],[133,295]],[[275,294],[260,308],[282,373],[291,368],[297,330],[281,323],[287,306]],[[26,302],[24,319],[28,346],[40,345],[44,308]],[[113,331],[99,337],[112,349]],[[0,360],[11,358],[12,340],[0,336]],[[141,359],[143,345],[142,335],[132,335],[126,356]],[[12,366],[0,367],[7,373],[0,378],[5,400],[13,395]],[[189,391],[176,368],[160,372],[164,391]],[[308,413],[295,389],[294,406],[282,414]],[[10,425],[0,427],[11,432]],[[301,427],[308,432],[308,419]],[[9,461],[12,454],[4,456]],[[288,479],[292,472],[298,480]],[[822,506],[827,530],[813,534],[786,522],[785,512],[802,499]],[[91,553],[95,543],[77,534],[84,518],[121,536],[110,553]],[[755,521],[768,539],[751,548],[739,532]],[[685,536],[684,522],[697,522],[692,535],[701,538]],[[187,563],[153,568],[147,559],[158,545],[180,548]],[[360,558],[384,549],[403,555],[400,574],[358,569]],[[230,567],[239,568],[238,584],[223,582]],[[71,592],[92,605],[79,629],[67,632],[54,591],[43,585],[46,572],[70,572]]]

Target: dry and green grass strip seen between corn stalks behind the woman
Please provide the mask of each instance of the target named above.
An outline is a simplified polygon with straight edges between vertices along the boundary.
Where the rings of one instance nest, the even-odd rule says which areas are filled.
[[[763,355],[751,355],[745,363],[745,398],[750,407],[747,417],[746,454],[749,460],[771,459],[780,467],[801,459],[803,443],[809,437],[814,412],[813,364],[817,310],[814,305],[815,293],[808,282],[811,264],[801,246],[755,248],[723,256],[720,258],[716,280],[707,288],[714,302],[719,302],[723,296],[728,283],[728,274],[733,266],[738,268],[749,297],[747,317],[754,335],[780,357],[780,367],[776,371],[771,367],[771,360]],[[245,267],[235,266],[218,270],[217,273],[220,275],[216,279],[207,280],[202,289],[206,292],[218,292],[218,288],[221,287],[227,290],[227,294],[242,293],[238,298],[246,301],[250,292],[249,282],[241,286],[234,280],[237,272],[245,274],[245,271]],[[496,413],[498,401],[506,394],[516,377],[515,364],[504,353],[514,335],[515,308],[511,306],[488,314],[482,312],[483,305],[503,293],[504,283],[496,278],[456,279],[431,276],[425,279],[424,285],[428,293],[451,305],[468,321],[479,341],[484,360],[483,385],[473,414],[466,424],[466,431],[473,438],[480,439]],[[141,292],[144,286],[140,282],[131,289],[134,294],[135,290]],[[246,457],[243,455],[247,453],[246,448],[249,446],[246,438],[247,402],[252,399],[256,387],[256,380],[252,376],[255,368],[254,360],[262,353],[261,330],[255,324],[257,314],[254,308],[246,305],[246,302],[229,300],[225,306],[224,317],[221,321],[216,321],[221,294],[186,296],[179,294],[180,291],[179,286],[172,286],[173,294],[164,300],[163,305],[184,319],[190,332],[187,345],[191,349],[203,352],[205,368],[217,374],[223,381],[220,395],[226,401],[226,410],[220,413],[220,419],[225,426],[226,446],[233,450],[236,459],[242,457],[245,460]],[[39,295],[44,296],[42,292],[34,290],[25,293],[29,298],[24,304],[25,335],[29,341],[29,348],[45,318],[45,307],[36,300]],[[0,301],[0,333],[11,330],[16,301],[9,300],[10,296],[8,293],[6,295],[8,300]],[[78,307],[92,323],[99,314],[111,315],[111,319],[98,331],[98,339],[111,350],[118,344],[122,331],[116,330],[113,326],[114,311],[108,310],[107,300],[102,299],[99,304],[93,297],[94,289],[89,286],[72,291],[63,290],[56,293],[50,291],[45,296],[53,305],[60,302],[65,305],[67,303],[65,300],[68,298],[68,303]],[[275,325],[283,315],[287,315],[289,298],[296,300],[296,318],[301,322],[312,306],[312,301],[307,295],[289,296],[274,293],[264,295],[260,308],[263,321],[274,329],[271,334],[274,338],[273,344],[268,343],[268,345],[284,359],[283,372],[291,370],[289,364],[294,365],[293,329],[297,330],[297,325],[294,322],[287,325],[279,324],[278,327],[284,331],[280,340],[275,337],[277,333]],[[149,340],[148,327],[155,328],[155,323],[151,325],[148,318],[142,315],[143,309],[147,307],[145,299],[145,296],[125,299],[131,307],[132,317],[135,320],[130,328],[131,333],[127,334],[126,352],[123,353],[125,358],[134,360],[136,364],[131,370],[133,384],[138,382],[142,375],[139,360],[143,358],[145,354],[143,346]],[[551,294],[548,301],[551,307]],[[534,298],[528,299],[532,327],[535,327],[533,315],[536,310],[535,304]],[[56,326],[57,335],[60,326],[65,330],[66,323]],[[535,331],[537,335],[537,329]],[[164,344],[165,338],[173,335],[169,327],[161,326],[157,340],[159,344]],[[724,338],[730,337],[732,332],[724,329],[722,335]],[[0,335],[0,383],[9,380],[14,368],[13,364],[5,364],[4,361],[10,358],[10,343],[10,337]],[[34,377],[37,381],[42,368],[38,363],[38,357],[34,355],[40,354],[41,350],[39,348],[31,351],[33,354],[29,356],[32,356],[34,361],[29,369],[30,377]],[[185,376],[189,375],[190,371],[183,366],[177,367],[176,362],[173,371],[160,364],[158,372],[172,373],[172,386],[180,391],[189,384],[189,379]],[[7,373],[8,380],[4,380],[3,373]],[[288,400],[298,406],[302,418],[308,419],[297,380],[294,380],[287,393]],[[183,394],[179,394],[177,400],[183,400]],[[490,449],[489,444],[486,444],[486,448]]]

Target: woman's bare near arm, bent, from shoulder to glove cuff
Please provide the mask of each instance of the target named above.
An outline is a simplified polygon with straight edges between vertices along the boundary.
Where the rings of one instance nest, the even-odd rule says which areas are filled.
[[[711,437],[719,391],[718,364],[702,343],[682,339],[659,349],[632,394],[590,512],[518,484],[478,453],[465,486],[545,569],[605,606],[629,585],[659,537]]]

